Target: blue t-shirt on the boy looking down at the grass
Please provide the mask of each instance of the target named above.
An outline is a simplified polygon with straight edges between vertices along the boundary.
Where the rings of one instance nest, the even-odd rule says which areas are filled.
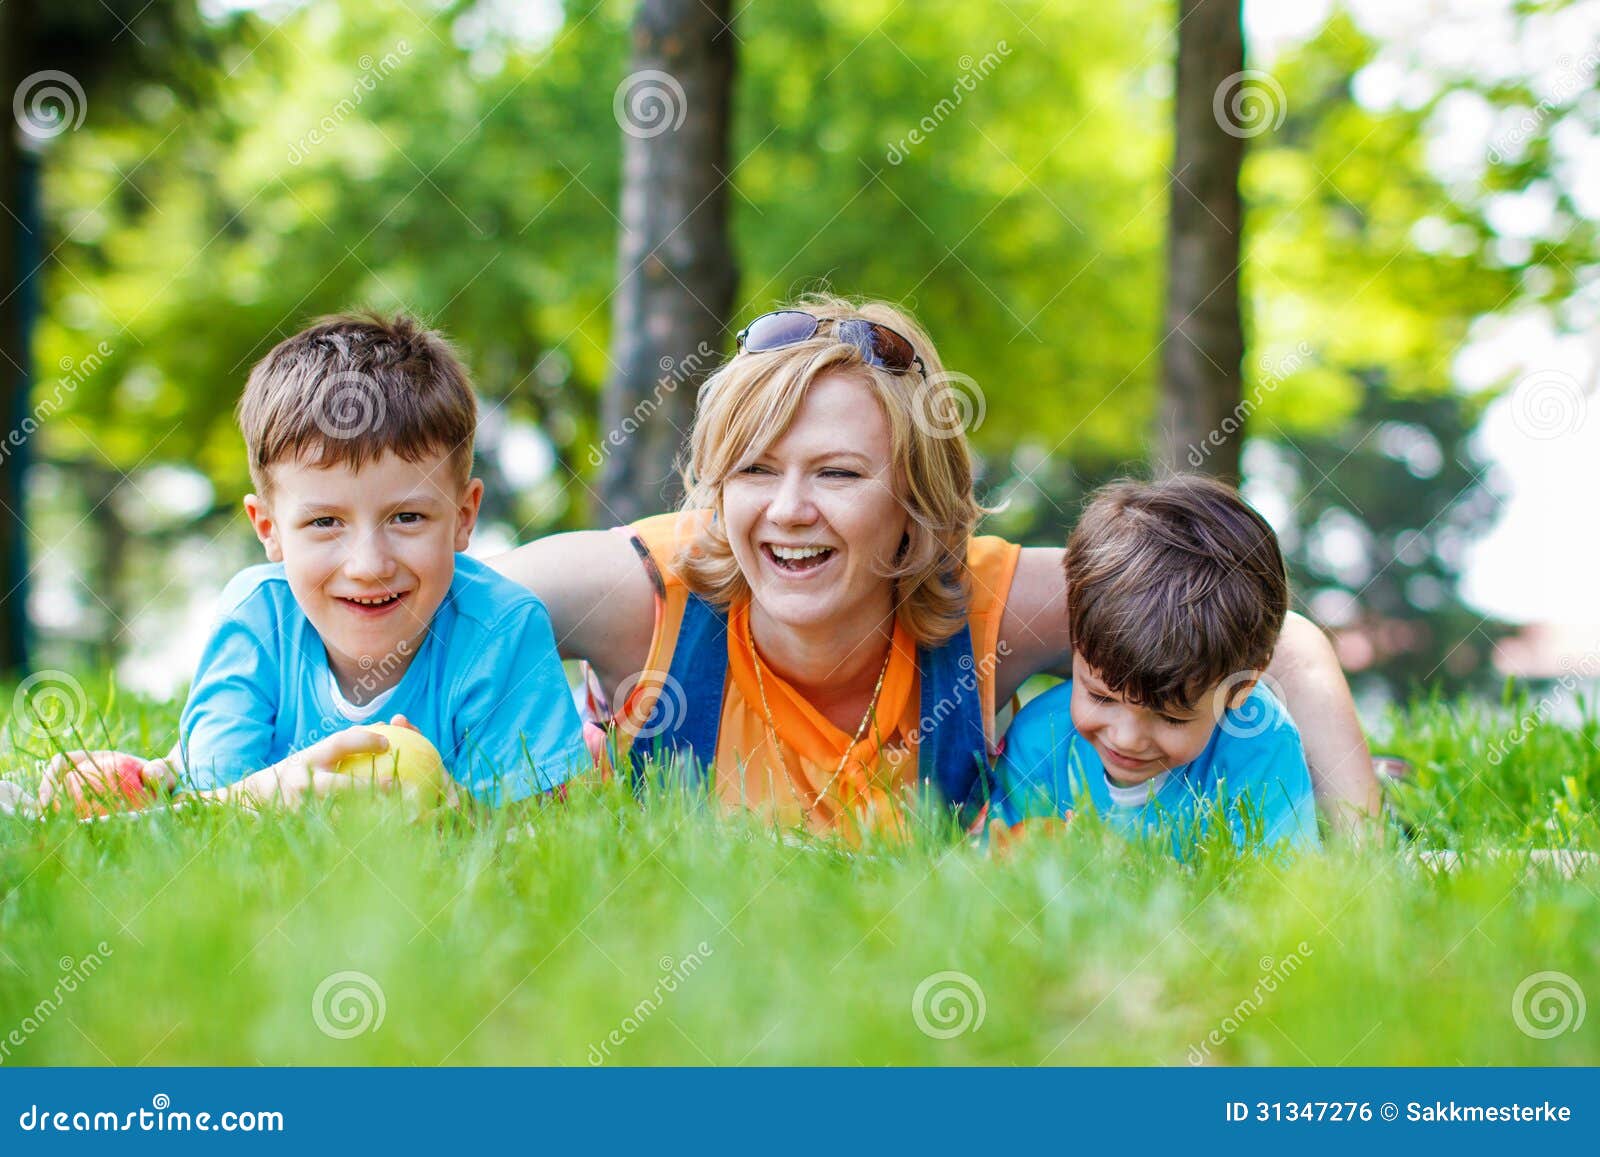
[[[1266,687],[1229,712],[1192,763],[1152,779],[1142,802],[1128,799],[1142,792],[1107,783],[1099,752],[1072,727],[1070,704],[1069,680],[1032,699],[1006,731],[994,794],[1006,824],[1093,807],[1128,835],[1170,831],[1181,856],[1186,837],[1205,831],[1221,805],[1238,848],[1320,845],[1299,730]]]

